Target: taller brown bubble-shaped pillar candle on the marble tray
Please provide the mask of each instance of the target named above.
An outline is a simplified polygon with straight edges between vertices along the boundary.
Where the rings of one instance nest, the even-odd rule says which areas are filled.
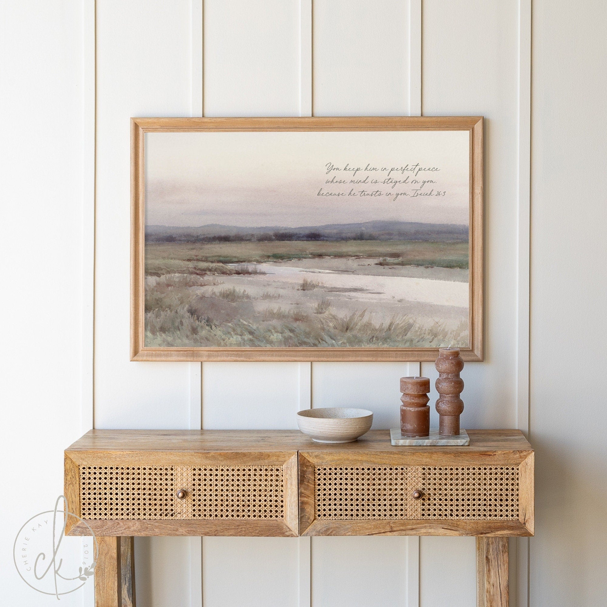
[[[438,433],[443,436],[459,434],[459,416],[464,410],[464,401],[459,398],[464,389],[464,380],[459,377],[459,371],[464,368],[464,361],[459,356],[459,348],[440,348],[436,359],[436,401],[438,412]]]

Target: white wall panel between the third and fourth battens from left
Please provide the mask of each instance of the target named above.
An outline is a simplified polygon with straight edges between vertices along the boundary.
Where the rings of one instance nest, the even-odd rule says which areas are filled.
[[[315,1],[313,32],[315,116],[409,113],[408,2]],[[398,379],[408,375],[408,368],[398,363],[314,363],[312,402],[314,407],[368,407],[375,413],[374,428],[396,427]],[[407,545],[407,538],[379,543],[312,538],[313,605],[346,605],[348,600],[373,605],[373,597],[405,605]],[[368,568],[373,574],[361,575]]]

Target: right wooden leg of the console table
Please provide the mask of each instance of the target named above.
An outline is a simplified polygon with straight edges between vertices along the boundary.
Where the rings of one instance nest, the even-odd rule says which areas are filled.
[[[476,538],[476,606],[508,607],[508,538]]]

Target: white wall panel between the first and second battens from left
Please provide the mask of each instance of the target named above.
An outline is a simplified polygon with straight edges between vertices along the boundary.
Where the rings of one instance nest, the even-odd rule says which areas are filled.
[[[189,0],[97,2],[97,428],[189,427],[190,365],[129,362],[129,118],[190,114],[190,34]],[[182,605],[188,538],[137,540],[135,553],[138,603]]]

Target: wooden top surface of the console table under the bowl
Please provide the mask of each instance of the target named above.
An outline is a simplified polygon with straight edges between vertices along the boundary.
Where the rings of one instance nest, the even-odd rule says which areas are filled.
[[[466,430],[467,447],[393,447],[390,430],[370,430],[354,443],[315,443],[299,430],[89,430],[67,451],[433,452],[532,451],[520,430]]]

